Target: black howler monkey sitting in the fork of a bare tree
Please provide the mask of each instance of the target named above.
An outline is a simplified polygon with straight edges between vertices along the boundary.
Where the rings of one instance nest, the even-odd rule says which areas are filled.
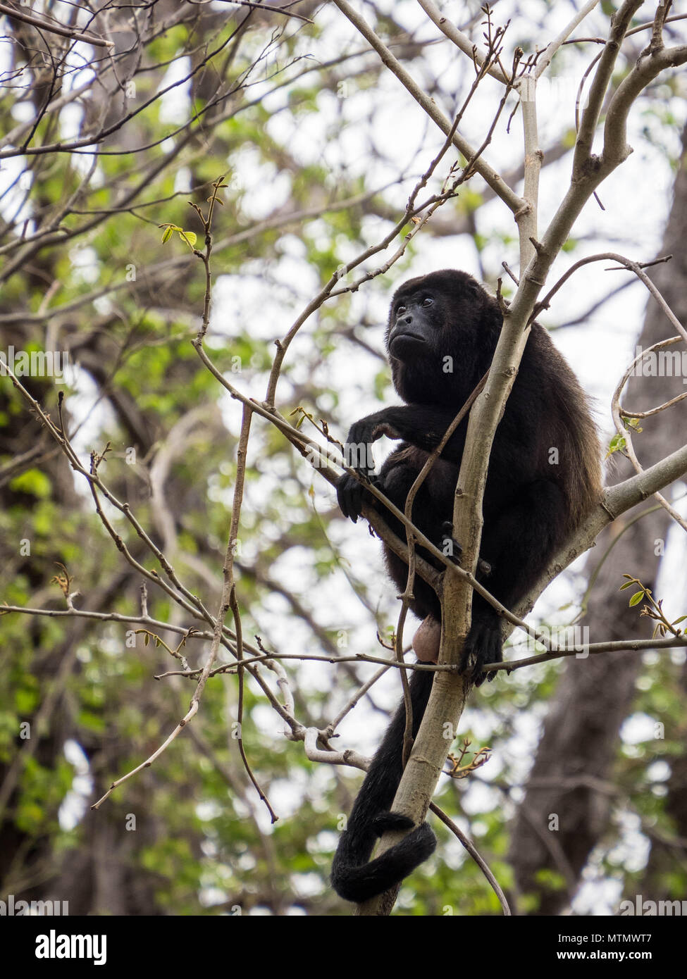
[[[428,452],[443,437],[467,397],[489,368],[503,317],[496,299],[466,272],[446,269],[411,279],[396,292],[386,331],[394,387],[406,402],[383,408],[356,422],[347,447],[359,450],[382,435],[402,443],[371,476],[378,489],[401,510]],[[467,419],[447,443],[417,493],[413,520],[441,546],[450,527]],[[563,356],[538,323],[532,329],[515,384],[499,423],[489,460],[483,500],[480,558],[488,569],[486,586],[513,608],[555,553],[564,537],[599,500],[600,446],[587,402]],[[370,458],[358,466],[370,476]],[[354,477],[337,485],[339,506],[355,523],[366,499],[405,539],[405,529]],[[450,534],[450,530],[449,530]],[[386,566],[399,589],[408,566],[388,547]],[[417,553],[439,568],[421,547]],[[441,607],[433,588],[416,577],[411,609],[423,620],[414,646],[423,660],[436,659]],[[501,662],[501,622],[479,595],[473,595],[472,623],[462,668],[480,683],[487,663]],[[493,675],[492,675],[493,676]],[[411,678],[413,735],[424,713],[433,676]],[[403,703],[381,742],[348,828],[334,857],[331,881],[348,901],[366,901],[399,883],[434,850],[436,838],[426,822],[400,843],[369,862],[378,836],[387,829],[411,829],[408,816],[389,812],[402,774],[405,727]]]

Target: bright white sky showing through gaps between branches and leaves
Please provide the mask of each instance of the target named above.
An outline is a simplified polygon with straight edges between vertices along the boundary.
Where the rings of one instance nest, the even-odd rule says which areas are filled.
[[[451,43],[443,39],[437,28],[427,22],[424,13],[414,0],[382,0],[378,4],[381,9],[393,12],[394,18],[413,28],[421,27],[420,37],[437,38],[437,43],[431,49],[431,67],[433,73],[440,79],[445,93],[455,94],[455,104],[446,102],[441,95],[435,95],[440,108],[445,115],[451,117],[465,97],[473,77],[473,70],[465,56],[457,55]],[[444,3],[439,5],[446,16],[459,25],[466,22],[466,12],[475,9],[474,3]],[[225,9],[226,5],[224,5]],[[362,6],[366,16],[369,11]],[[535,46],[544,47],[562,28],[577,7],[570,3],[556,3],[547,10],[547,5],[539,0],[524,0],[519,4],[501,0],[494,5],[494,22],[505,23],[509,18],[513,23],[506,36],[506,63],[510,62],[511,52],[519,43],[525,52],[532,51]],[[651,7],[645,4],[644,13],[648,20]],[[546,29],[532,27],[532,24],[544,20]],[[355,49],[363,49],[364,43],[359,39],[354,28],[343,18],[333,5],[325,5],[317,15],[317,21],[322,34],[318,41],[313,42],[319,60],[335,57],[350,45]],[[681,24],[675,25],[683,38],[687,28]],[[576,29],[573,36],[600,36],[608,29],[608,19],[601,14],[592,14]],[[648,39],[647,34],[647,39]],[[479,39],[475,33],[475,40]],[[634,40],[637,40],[636,38]],[[646,42],[637,41],[638,49]],[[538,97],[540,146],[546,148],[553,145],[558,134],[574,124],[574,99],[576,86],[581,72],[589,64],[597,45],[584,47],[567,47],[555,59],[549,77],[553,82],[540,85]],[[367,63],[375,56],[365,55]],[[0,51],[1,58],[1,51]],[[180,73],[183,66],[172,66],[165,84],[172,80],[172,72]],[[422,76],[417,64],[410,66],[411,73],[421,82]],[[315,75],[310,76],[314,82]],[[684,75],[683,75],[684,78]],[[82,79],[79,79],[82,81]],[[297,83],[299,84],[299,83]],[[355,88],[355,81],[352,88]],[[670,98],[668,102],[667,89],[659,92],[659,98],[674,117],[681,122],[685,118],[684,81],[681,91],[682,98]],[[253,96],[259,94],[259,86],[253,89]],[[478,145],[493,117],[494,107],[501,96],[501,87],[492,79],[486,79],[480,87],[473,104],[466,113],[462,131],[473,145]],[[271,96],[268,108],[279,108],[286,104],[287,90],[282,90]],[[656,95],[655,95],[656,99]],[[403,185],[390,189],[386,200],[402,210],[409,193],[415,184],[415,178],[435,155],[443,143],[443,135],[436,131],[433,124],[417,107],[411,96],[401,84],[388,72],[380,75],[380,83],[373,90],[352,91],[350,95],[337,98],[330,92],[322,92],[319,96],[321,112],[317,116],[292,116],[288,112],[274,115],[268,123],[270,136],[283,142],[289,152],[303,163],[325,163],[331,173],[332,187],[336,186],[338,174],[350,176],[357,172],[368,176],[370,186],[383,186],[398,177],[399,169],[409,174],[409,179]],[[188,92],[181,88],[173,89],[163,100],[161,117],[169,122],[182,121],[188,116]],[[507,109],[494,134],[491,146],[485,153],[485,158],[502,170],[508,170],[521,158],[521,117],[517,113],[511,124],[511,134],[506,133],[506,122],[510,110]],[[654,103],[656,104],[656,103]],[[368,115],[370,105],[374,109],[374,131],[371,141],[386,156],[385,162],[380,156],[370,154],[370,133]],[[635,152],[602,184],[599,194],[606,210],[601,210],[595,201],[590,201],[583,210],[573,235],[583,238],[585,235],[595,236],[594,240],[583,241],[569,255],[558,258],[550,275],[550,284],[564,272],[565,268],[580,257],[601,251],[617,251],[630,258],[648,260],[659,253],[662,241],[662,231],[670,204],[670,188],[673,173],[670,169],[662,145],[667,146],[669,154],[675,157],[679,152],[679,126],[670,129],[648,113],[649,102],[646,100],[635,107],[630,116],[628,141]],[[74,124],[74,119],[69,120]],[[658,145],[646,138],[643,132],[648,127]],[[84,158],[85,159],[85,158]],[[455,154],[449,152],[437,175],[443,176],[448,166],[455,160]],[[275,206],[288,199],[290,178],[285,173],[269,170],[260,163],[258,154],[251,147],[245,147],[230,161],[238,179],[241,180],[248,193],[244,196],[244,208],[255,218],[269,213]],[[570,156],[562,161],[545,166],[542,169],[540,181],[540,236],[556,209],[570,172]],[[12,173],[9,174],[12,176]],[[0,175],[1,176],[1,175]],[[184,179],[180,172],[179,179]],[[481,181],[475,178],[468,186],[480,188]],[[432,187],[435,189],[435,187]],[[442,219],[450,213],[449,210],[439,211]],[[227,215],[222,214],[226,220]],[[489,285],[500,273],[501,261],[509,262],[517,270],[516,228],[509,210],[499,201],[493,201],[482,207],[477,213],[477,228],[483,235],[493,230],[508,234],[514,241],[505,245],[492,244],[483,252],[481,259],[489,277]],[[324,230],[324,229],[323,229]],[[370,217],[366,222],[366,233],[370,242],[383,237],[388,230],[388,224],[376,217]],[[319,278],[313,268],[309,268],[304,260],[305,246],[295,235],[284,236],[281,240],[283,256],[277,261],[270,261],[270,280],[280,284],[279,288],[266,288],[266,262],[256,259],[254,275],[250,275],[250,266],[245,267],[247,274],[240,276],[220,277],[216,280],[212,329],[218,339],[231,337],[243,329],[247,329],[254,337],[273,339],[283,336],[288,330],[295,315],[310,301],[319,288]],[[466,235],[455,238],[435,239],[427,233],[420,232],[415,240],[417,254],[413,260],[410,272],[399,272],[396,284],[410,274],[418,275],[441,267],[464,268],[477,278],[481,278],[477,252],[470,238]],[[341,242],[341,262],[353,256],[349,243]],[[85,256],[85,258],[84,258]],[[86,275],[83,268],[87,264],[88,250],[85,247],[74,249],[74,266],[78,266],[79,274]],[[95,260],[94,256],[91,260]],[[379,259],[373,259],[373,265],[379,264]],[[541,321],[548,326],[568,320],[588,308],[594,299],[600,298],[620,281],[618,277],[623,272],[604,271],[607,262],[599,262],[587,266],[564,287],[556,299],[556,304]],[[216,272],[217,274],[217,272]],[[392,275],[393,273],[392,270]],[[627,273],[629,274],[629,273]],[[353,277],[357,277],[354,275]],[[352,321],[364,314],[368,320],[378,323],[366,334],[366,340],[378,350],[383,350],[383,324],[389,294],[386,287],[380,283],[370,283],[352,302]],[[554,341],[564,352],[571,366],[577,373],[585,390],[597,399],[599,420],[606,433],[610,431],[609,402],[616,379],[624,370],[630,354],[634,351],[636,338],[641,329],[646,294],[640,284],[633,285],[619,297],[607,303],[591,316],[584,326],[566,328],[554,333]],[[313,330],[317,326],[315,319],[307,323],[301,334],[293,343],[288,353],[289,362],[303,362],[303,374],[309,370],[308,351],[310,350]],[[671,328],[666,322],[666,336]],[[373,395],[372,381],[378,372],[380,363],[364,350],[352,347],[347,342],[340,342],[326,362],[319,368],[315,380],[324,385],[334,387],[340,396],[338,414],[344,425],[348,425],[371,410],[379,408],[379,402]],[[298,370],[296,371],[298,377]],[[237,381],[232,378],[232,381]],[[239,380],[239,386],[243,379]],[[242,390],[250,387],[250,396],[264,396],[263,378],[245,379]],[[289,382],[284,379],[280,395],[287,399]],[[84,386],[84,406],[91,393]],[[396,401],[397,398],[394,398]],[[277,397],[278,401],[278,397]],[[391,392],[386,403],[392,403]],[[227,425],[231,431],[238,431],[237,419],[240,408],[228,398],[222,401]],[[260,444],[260,427],[254,426],[256,441],[252,442],[251,452],[256,458],[257,446]],[[343,439],[346,430],[338,433]],[[385,448],[382,448],[382,444]],[[375,457],[381,460],[382,453],[392,447],[386,440],[377,443]],[[250,458],[249,458],[250,462]],[[311,475],[305,471],[303,463],[301,479],[309,484]],[[266,468],[261,466],[261,468]],[[249,519],[250,510],[260,513],[268,498],[270,486],[274,481],[283,479],[278,472],[265,472],[256,483],[249,483],[246,488],[245,515]],[[315,505],[319,511],[325,511],[334,504],[334,492],[324,481],[317,477],[313,480],[316,490]],[[283,528],[289,526],[290,514],[283,514]],[[275,531],[277,528],[275,528]],[[340,548],[342,555],[348,560],[354,577],[368,581],[378,593],[382,606],[387,610],[386,622],[395,624],[397,607],[393,602],[394,589],[386,582],[383,574],[379,543],[368,536],[365,525],[353,527],[350,523],[334,522],[328,529],[331,539]],[[671,557],[666,561],[668,575],[665,581],[671,583],[666,588],[666,600],[670,594],[684,595],[687,592],[685,577],[684,545],[677,535],[671,541]],[[322,547],[326,542],[322,539]],[[302,594],[308,604],[316,609],[319,622],[336,629],[350,629],[350,652],[370,652],[374,641],[374,629],[370,617],[355,598],[351,588],[341,575],[334,575],[328,580],[318,582],[313,572],[314,555],[311,551],[292,548],[271,569],[273,577],[282,579],[292,590]],[[576,593],[573,587],[574,576],[564,576],[549,589],[546,596],[535,609],[534,618],[540,609],[547,613],[556,609]],[[309,630],[298,620],[289,618],[288,629],[285,628],[284,613],[286,606],[279,596],[272,596],[266,602],[261,613],[261,627],[265,634],[271,634],[278,639],[281,652],[309,651],[320,652]],[[412,635],[412,622],[406,629],[406,638]],[[329,689],[332,683],[333,668],[314,664],[304,664],[298,667],[298,682],[303,689]],[[295,671],[294,671],[295,673]],[[497,682],[504,682],[499,680]],[[512,685],[514,694],[519,683],[527,682],[517,674],[507,682]],[[374,688],[374,698],[379,704],[391,706],[398,698],[399,682],[397,677],[388,677]],[[336,707],[343,702],[343,695],[334,692],[331,697],[331,716]],[[255,714],[258,723],[264,722],[265,729],[273,733],[280,726],[269,707]],[[466,723],[475,731],[484,729],[485,737],[491,729],[493,719],[490,716],[487,695],[478,698],[477,703],[466,714]],[[642,720],[637,723],[641,726]],[[628,722],[623,733],[632,740],[631,722]],[[342,736],[339,746],[356,747],[371,753],[379,740],[384,720],[378,713],[371,711],[366,704],[359,705],[342,725]],[[536,745],[536,719],[533,716],[519,717],[515,723],[516,733],[509,742],[508,749],[512,752],[509,762],[513,765],[519,760],[522,774],[526,772],[531,759],[531,752]],[[322,767],[323,768],[323,767]],[[498,775],[499,762],[493,759],[481,774],[485,780]],[[355,773],[351,772],[352,777]],[[331,775],[333,777],[333,774]],[[283,791],[279,785],[272,785],[272,803],[281,808],[281,815],[286,816],[297,806],[298,799],[294,796],[292,787],[284,785]],[[466,812],[477,810],[484,803],[484,792],[491,792],[488,787],[475,784],[464,796]],[[300,798],[300,795],[299,795]],[[262,813],[261,810],[259,810]],[[266,825],[266,829],[269,827]],[[638,853],[641,846],[637,843],[636,828],[628,826],[627,839],[631,842],[631,852]],[[628,844],[629,845],[629,844]],[[593,889],[592,898],[587,900],[582,896],[580,910],[585,913],[608,910],[613,906],[614,894],[607,894],[608,888],[602,891]],[[607,905],[606,902],[610,902]]]

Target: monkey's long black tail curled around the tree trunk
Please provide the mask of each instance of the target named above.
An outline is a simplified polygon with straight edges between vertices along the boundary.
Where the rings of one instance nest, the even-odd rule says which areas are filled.
[[[413,736],[429,700],[434,675],[414,671],[411,676]],[[331,865],[331,885],[346,901],[360,904],[399,884],[434,852],[436,837],[423,822],[381,857],[369,862],[378,836],[387,829],[410,829],[408,816],[389,812],[403,774],[403,734],[406,708],[401,704],[384,735],[358,793],[348,828],[341,834]]]

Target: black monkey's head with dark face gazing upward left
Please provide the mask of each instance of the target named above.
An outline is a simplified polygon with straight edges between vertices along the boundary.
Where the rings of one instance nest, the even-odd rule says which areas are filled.
[[[467,272],[443,269],[404,283],[386,330],[396,391],[411,403],[455,404],[457,385],[471,391],[488,367],[501,323],[498,303]]]

